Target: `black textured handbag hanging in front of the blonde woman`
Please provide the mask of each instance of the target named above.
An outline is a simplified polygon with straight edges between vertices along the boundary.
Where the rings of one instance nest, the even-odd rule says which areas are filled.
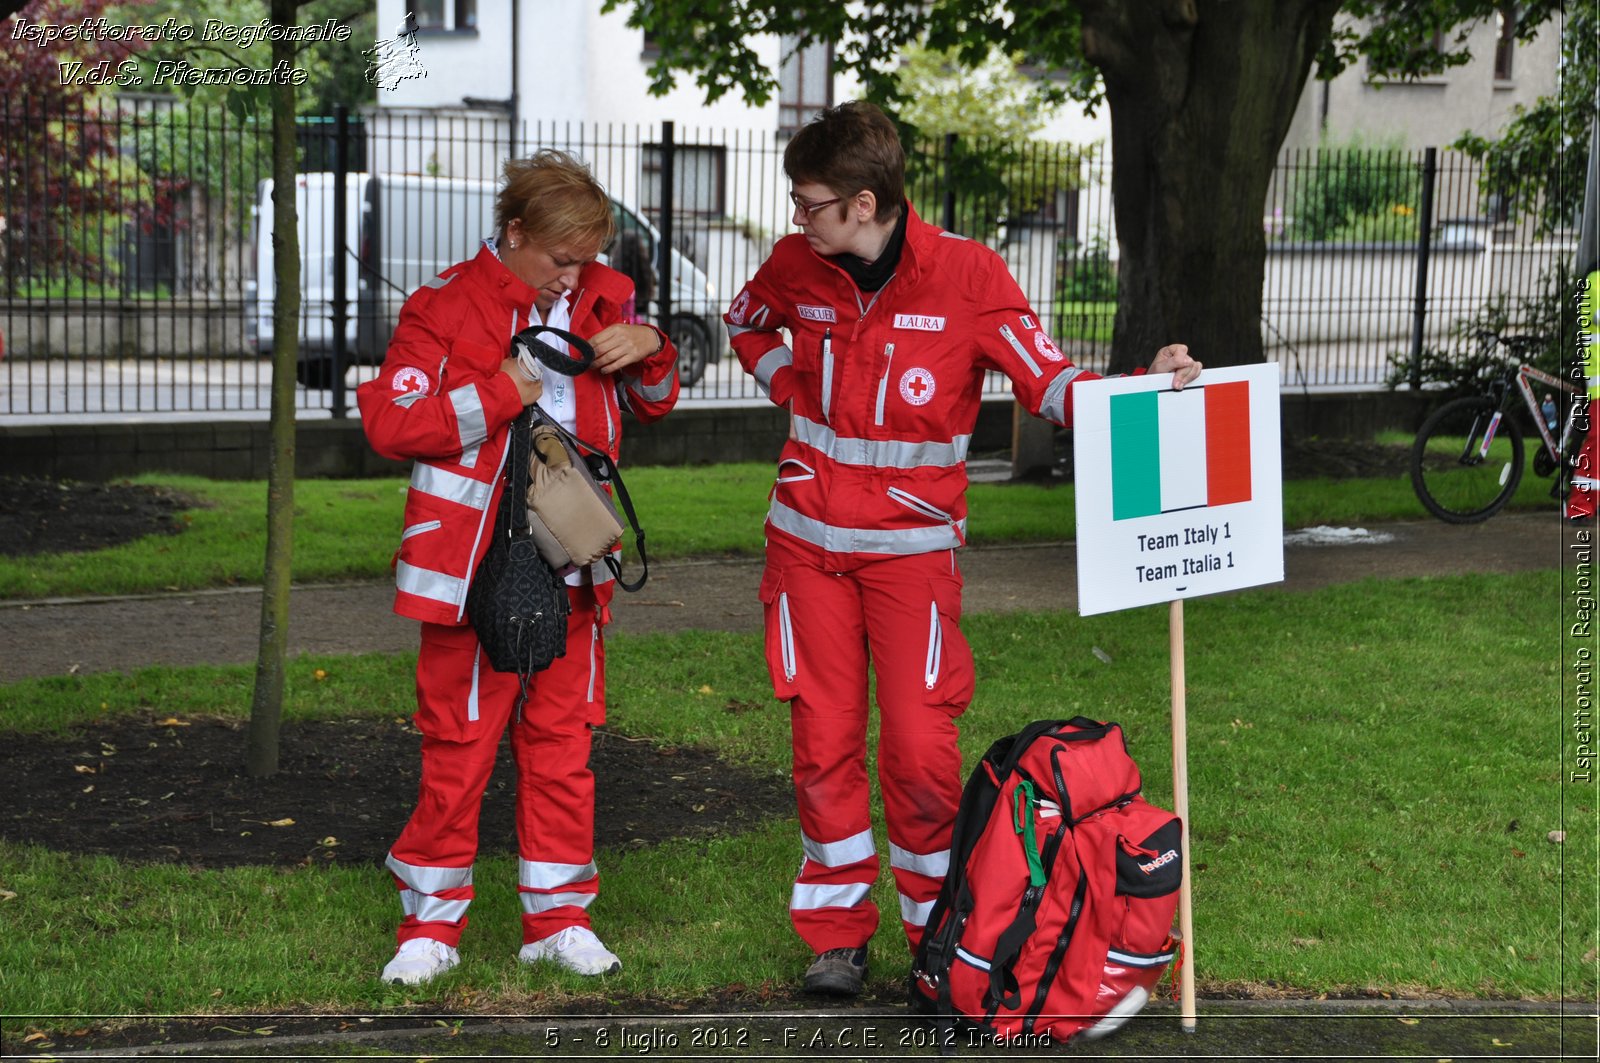
[[[566,655],[566,584],[539,556],[528,528],[528,458],[533,418],[523,410],[510,424],[507,483],[494,514],[494,536],[467,588],[467,616],[498,672],[525,680]]]

